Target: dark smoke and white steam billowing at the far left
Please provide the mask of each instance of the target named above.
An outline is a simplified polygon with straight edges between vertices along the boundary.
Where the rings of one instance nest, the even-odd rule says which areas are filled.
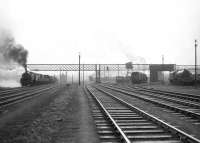
[[[0,87],[20,86],[28,52],[10,32],[0,29]]]

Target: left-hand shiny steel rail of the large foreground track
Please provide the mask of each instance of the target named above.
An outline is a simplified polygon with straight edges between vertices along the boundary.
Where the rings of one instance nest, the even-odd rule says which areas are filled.
[[[117,125],[117,123],[115,122],[115,120],[112,118],[112,116],[108,113],[108,111],[105,109],[105,107],[103,106],[103,104],[101,103],[101,101],[99,101],[97,99],[97,97],[94,95],[94,93],[88,88],[86,87],[88,92],[93,96],[93,98],[96,100],[96,102],[98,103],[98,105],[101,107],[101,109],[103,110],[103,112],[106,114],[106,116],[109,118],[109,120],[113,123],[113,125],[115,126],[115,128],[117,129],[117,131],[119,132],[119,134],[121,135],[121,139],[123,139],[123,141],[125,141],[126,143],[131,143],[131,141],[127,138],[127,136],[124,134],[124,132],[121,130],[121,128]]]

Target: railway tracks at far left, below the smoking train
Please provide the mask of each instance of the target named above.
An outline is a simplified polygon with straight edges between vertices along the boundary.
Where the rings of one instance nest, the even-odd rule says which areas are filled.
[[[28,100],[30,98],[40,96],[42,94],[53,94],[59,89],[58,85],[38,86],[35,88],[20,89],[14,92],[10,90],[8,93],[0,96],[0,109],[7,106]],[[7,93],[7,92],[6,92]]]

